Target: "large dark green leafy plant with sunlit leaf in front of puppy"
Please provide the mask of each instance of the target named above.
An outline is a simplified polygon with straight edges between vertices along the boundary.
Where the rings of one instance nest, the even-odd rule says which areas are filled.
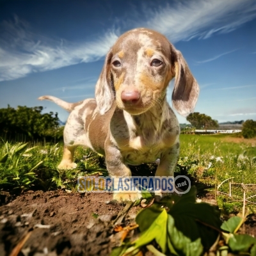
[[[196,203],[196,189],[177,196],[164,197],[160,202],[143,209],[136,217],[141,236],[116,248],[114,255],[132,255],[152,241],[167,255],[201,255],[209,250],[220,232],[220,212],[216,207]],[[151,247],[152,248],[152,247]],[[156,248],[155,248],[156,249]],[[156,249],[157,250],[157,249]],[[123,254],[118,254],[122,252]]]

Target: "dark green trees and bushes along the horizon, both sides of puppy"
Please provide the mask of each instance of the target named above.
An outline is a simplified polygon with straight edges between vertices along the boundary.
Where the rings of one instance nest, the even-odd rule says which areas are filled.
[[[63,139],[58,113],[42,113],[42,106],[28,108],[18,106],[17,109],[0,109],[0,137],[14,141],[59,141]],[[217,129],[218,121],[203,113],[194,112],[187,116],[188,122],[196,129]],[[242,121],[241,121],[242,122]],[[244,138],[256,137],[256,121],[243,122]]]

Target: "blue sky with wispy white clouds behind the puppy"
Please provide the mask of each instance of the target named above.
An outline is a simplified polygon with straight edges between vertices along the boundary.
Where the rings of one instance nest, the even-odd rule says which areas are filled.
[[[0,108],[94,97],[104,56],[132,28],[163,33],[200,85],[195,111],[219,122],[256,120],[256,1],[0,0]],[[168,99],[172,93],[169,86]],[[180,123],[186,118],[177,114]]]

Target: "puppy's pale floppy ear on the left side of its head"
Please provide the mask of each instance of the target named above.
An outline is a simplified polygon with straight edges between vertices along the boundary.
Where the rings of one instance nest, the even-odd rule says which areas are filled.
[[[112,55],[112,51],[110,50],[106,56],[104,67],[102,68],[102,72],[95,88],[95,98],[100,115],[104,115],[111,108],[115,99],[115,92],[113,91],[110,74]]]

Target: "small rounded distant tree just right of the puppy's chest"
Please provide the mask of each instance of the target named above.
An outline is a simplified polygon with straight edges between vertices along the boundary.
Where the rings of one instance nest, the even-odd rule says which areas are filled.
[[[195,126],[196,129],[204,128],[205,131],[207,131],[207,129],[216,129],[219,126],[217,120],[213,120],[211,116],[200,114],[198,112],[189,114],[187,120],[191,125]]]

